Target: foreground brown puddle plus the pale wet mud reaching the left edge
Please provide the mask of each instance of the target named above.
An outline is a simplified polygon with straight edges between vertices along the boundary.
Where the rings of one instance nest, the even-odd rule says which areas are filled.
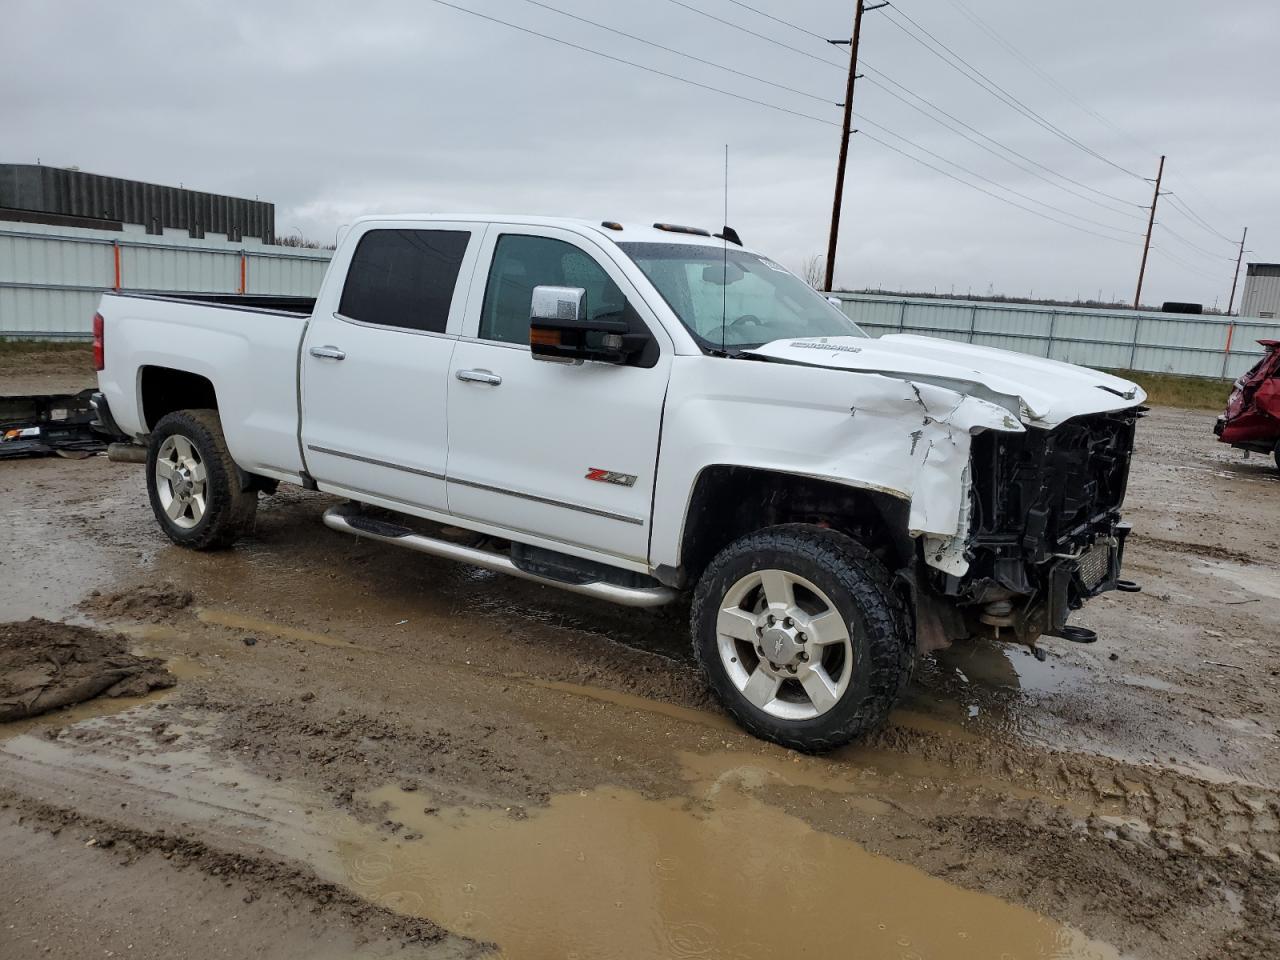
[[[849,792],[864,814],[891,812],[808,758],[685,754],[685,795],[600,786],[529,813],[447,806],[385,786],[358,796],[387,810],[374,827],[300,783],[215,758],[205,746],[211,718],[198,713],[164,717],[180,737],[140,754],[131,744],[147,741],[157,714],[138,710],[91,754],[44,737],[9,741],[0,769],[151,828],[180,820],[188,836],[216,831],[236,847],[298,859],[394,914],[495,942],[507,960],[1119,957],[1075,928],[870,854],[756,795],[808,787]]]

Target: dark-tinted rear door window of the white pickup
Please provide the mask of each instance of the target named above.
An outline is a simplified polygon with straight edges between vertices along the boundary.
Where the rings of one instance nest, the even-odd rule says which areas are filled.
[[[347,269],[338,312],[349,320],[444,333],[466,230],[370,230]]]

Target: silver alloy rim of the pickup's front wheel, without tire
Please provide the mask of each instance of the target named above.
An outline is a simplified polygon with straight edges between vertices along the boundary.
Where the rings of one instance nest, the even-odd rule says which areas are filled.
[[[730,588],[716,644],[733,686],[778,719],[820,717],[854,675],[849,627],[831,599],[783,570],[758,570]]]

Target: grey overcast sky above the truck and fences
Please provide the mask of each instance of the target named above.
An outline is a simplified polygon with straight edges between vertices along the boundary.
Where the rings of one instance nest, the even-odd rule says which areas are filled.
[[[545,0],[742,77],[529,0],[451,3],[818,119],[603,60],[433,0],[0,0],[0,160],[38,157],[257,196],[275,204],[279,233],[332,243],[355,216],[406,211],[718,227],[727,143],[728,221],[744,239],[797,271],[826,251],[845,47],[732,0],[686,3],[803,54],[672,0]],[[749,3],[820,36],[850,32],[851,0]],[[901,28],[915,29],[904,14],[1105,160],[933,56]],[[1280,261],[1277,0],[901,0],[867,14],[861,50],[868,69],[855,125],[864,133],[1108,238],[1000,202],[859,133],[837,285],[1132,297],[1140,207],[1151,202],[1140,178],[1155,177],[1162,152],[1166,187],[1233,242],[1162,198],[1144,302],[1225,307],[1234,239],[1245,224],[1256,251],[1245,259]],[[995,154],[873,79],[946,110]],[[1002,159],[1009,154],[983,137],[1021,159]]]

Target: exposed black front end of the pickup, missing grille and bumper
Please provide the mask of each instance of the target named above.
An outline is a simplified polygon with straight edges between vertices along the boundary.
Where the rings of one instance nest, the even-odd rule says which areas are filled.
[[[1071,612],[1107,590],[1139,589],[1120,575],[1129,534],[1120,508],[1144,410],[973,436],[968,568],[928,568],[929,645],[983,635],[1032,648],[1042,635],[1096,639],[1068,623]]]

